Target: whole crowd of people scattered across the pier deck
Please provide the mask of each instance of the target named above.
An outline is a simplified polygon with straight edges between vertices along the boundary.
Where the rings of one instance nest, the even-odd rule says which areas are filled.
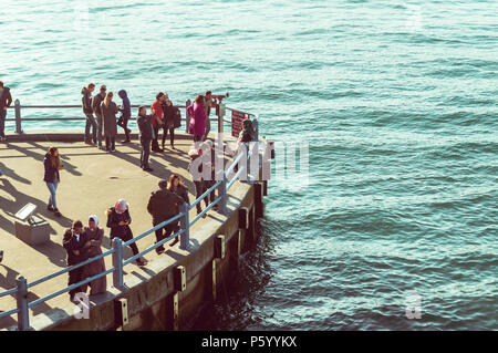
[[[118,96],[122,104],[118,106],[113,102],[113,92],[107,92],[105,85],[101,85],[100,92],[92,96],[95,90],[95,84],[91,83],[82,90],[82,106],[83,113],[86,116],[85,137],[86,144],[96,145],[98,148],[104,148],[108,153],[115,150],[115,137],[117,135],[117,126],[121,126],[125,133],[125,139],[122,143],[131,142],[131,129],[127,127],[128,121],[132,116],[131,102],[125,90],[118,91]],[[4,141],[4,120],[7,107],[10,106],[12,97],[9,89],[3,86],[0,82],[0,139]],[[212,141],[208,139],[210,132],[210,107],[216,105],[216,100],[211,97],[211,92],[207,91],[205,95],[197,95],[194,103],[187,106],[188,132],[193,135],[194,146],[188,152],[190,164],[188,172],[196,189],[196,198],[199,198],[210,187],[216,184],[215,175],[215,158],[217,150],[215,149]],[[121,112],[121,116],[116,114]],[[95,116],[94,116],[95,114]],[[151,114],[147,114],[146,106],[138,107],[137,125],[139,128],[141,150],[141,168],[145,172],[153,172],[148,164],[151,149],[153,152],[163,153],[165,150],[165,143],[169,133],[169,144],[175,148],[175,128],[180,126],[181,115],[173,102],[168,98],[166,93],[159,92],[156,95],[155,102],[151,106]],[[163,128],[163,138],[159,139],[159,133]],[[242,131],[239,135],[239,144],[255,139],[255,132],[250,121],[243,122]],[[162,142],[162,148],[159,147]],[[203,158],[203,163],[198,163],[198,158]],[[197,163],[196,163],[197,162]],[[61,212],[56,203],[56,190],[61,183],[60,170],[64,169],[59,155],[59,149],[51,146],[46,152],[43,160],[44,176],[43,180],[49,189],[49,201],[46,209],[53,211],[56,217],[61,217]],[[204,168],[209,168],[207,172]],[[1,175],[0,170],[0,175]],[[215,190],[205,198],[206,207],[216,200]],[[184,185],[184,180],[177,174],[173,174],[169,180],[160,180],[158,189],[153,191],[148,204],[147,211],[152,216],[152,224],[154,227],[175,217],[181,211],[181,205],[190,205],[188,197],[188,189]],[[214,210],[218,207],[215,205]],[[187,207],[188,209],[188,207]],[[203,212],[201,204],[196,205],[197,214]],[[108,207],[105,211],[107,217],[106,227],[110,228],[110,238],[121,238],[123,242],[133,239],[133,232],[129,227],[132,217],[129,215],[129,206],[124,199],[120,199],[113,207]],[[206,212],[203,215],[206,217]],[[165,227],[155,231],[156,243],[170,237],[179,230],[179,221],[173,221]],[[104,239],[104,229],[100,226],[98,217],[92,215],[87,219],[87,224],[83,225],[81,220],[74,220],[72,227],[68,229],[63,237],[63,247],[68,252],[68,266],[74,266],[86,261],[89,258],[102,255],[102,240]],[[178,237],[170,243],[175,246],[178,242]],[[139,250],[135,242],[129,245],[132,252],[136,256]],[[165,251],[164,246],[156,248],[158,255]],[[3,251],[0,251],[0,261],[3,258]],[[136,259],[137,266],[146,266],[147,261],[139,257]],[[95,260],[89,264],[69,271],[69,285],[77,283],[86,278],[105,271],[105,263],[103,259]],[[95,279],[89,283],[91,288],[90,294],[98,294],[106,291],[105,276]],[[77,292],[86,292],[89,285],[70,291],[71,300]]]

